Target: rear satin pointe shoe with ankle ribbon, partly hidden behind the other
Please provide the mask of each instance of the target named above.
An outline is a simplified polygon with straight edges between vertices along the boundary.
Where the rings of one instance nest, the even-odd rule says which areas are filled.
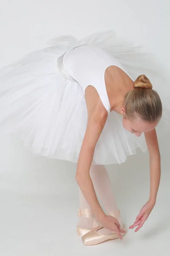
[[[91,229],[77,226],[78,236],[84,236],[88,232],[95,231],[95,230],[100,229],[102,227],[102,225],[99,223],[99,221],[97,221],[97,219],[95,218],[94,214],[91,212],[90,209],[83,209],[83,210],[79,209],[78,216],[79,217],[84,217],[84,218],[93,218],[94,219],[94,223],[93,223]]]

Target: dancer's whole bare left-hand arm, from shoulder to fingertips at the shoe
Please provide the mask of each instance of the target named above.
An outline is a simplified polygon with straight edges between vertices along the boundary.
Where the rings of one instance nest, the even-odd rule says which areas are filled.
[[[89,90],[85,97],[88,109],[88,124],[77,163],[76,180],[82,194],[91,207],[92,212],[103,224],[103,227],[116,232],[118,237],[122,239],[121,232],[125,233],[125,231],[120,229],[120,224],[116,218],[105,215],[103,212],[96,197],[96,192],[90,177],[90,168],[94,156],[94,150],[105,126],[108,112],[99,99],[96,89],[91,86],[89,86],[88,89]]]

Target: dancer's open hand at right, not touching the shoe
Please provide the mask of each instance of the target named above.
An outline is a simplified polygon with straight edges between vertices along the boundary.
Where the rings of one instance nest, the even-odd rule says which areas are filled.
[[[140,210],[139,215],[136,217],[136,221],[129,228],[133,229],[133,227],[138,226],[135,230],[135,232],[137,232],[143,226],[144,222],[149,217],[150,212],[152,211],[154,205],[155,205],[155,202],[147,201],[147,203],[144,204],[144,206]]]

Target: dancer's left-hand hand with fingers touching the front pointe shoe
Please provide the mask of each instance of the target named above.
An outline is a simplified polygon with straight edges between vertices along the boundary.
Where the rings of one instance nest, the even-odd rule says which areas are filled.
[[[121,233],[126,233],[125,230],[120,229],[120,224],[116,218],[110,215],[105,215],[105,218],[102,219],[101,224],[108,230],[114,231],[119,239],[122,239]]]

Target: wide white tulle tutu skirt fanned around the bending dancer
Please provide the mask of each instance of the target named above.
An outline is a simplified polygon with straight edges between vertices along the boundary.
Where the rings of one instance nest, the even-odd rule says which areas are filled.
[[[161,96],[153,56],[140,52],[140,47],[116,40],[113,31],[96,33],[81,41],[62,36],[49,41],[51,46],[32,52],[17,63],[0,70],[0,127],[17,134],[34,154],[77,163],[87,125],[87,109],[81,86],[57,70],[57,58],[67,50],[93,44],[119,60],[135,80],[145,74]],[[170,125],[170,105],[164,105],[158,125]],[[136,137],[122,125],[122,116],[111,112],[97,142],[93,164],[125,162],[136,148],[147,150],[144,134]]]

